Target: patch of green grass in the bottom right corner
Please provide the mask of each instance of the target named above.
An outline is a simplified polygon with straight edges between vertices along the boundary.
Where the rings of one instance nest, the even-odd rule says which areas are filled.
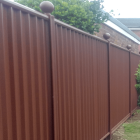
[[[127,140],[140,140],[140,121],[123,124]]]

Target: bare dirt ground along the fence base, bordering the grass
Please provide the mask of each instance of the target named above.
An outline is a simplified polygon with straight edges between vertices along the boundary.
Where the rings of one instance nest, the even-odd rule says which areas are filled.
[[[130,124],[133,122],[140,122],[140,109],[136,110],[133,116],[128,119],[124,124]],[[123,125],[121,125],[112,135],[111,140],[127,140],[127,134],[125,133]]]

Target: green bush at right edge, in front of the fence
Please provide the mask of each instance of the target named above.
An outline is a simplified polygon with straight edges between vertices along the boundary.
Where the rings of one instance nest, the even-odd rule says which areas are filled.
[[[135,85],[138,94],[140,94],[140,64],[138,65],[137,71],[136,71],[136,81],[137,84]],[[140,107],[140,95],[138,97],[138,106]]]

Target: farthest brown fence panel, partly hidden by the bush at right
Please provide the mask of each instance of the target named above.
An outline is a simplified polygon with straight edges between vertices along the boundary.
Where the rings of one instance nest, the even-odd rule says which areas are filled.
[[[131,54],[131,110],[133,111],[137,107],[138,94],[135,88],[136,76],[134,75],[137,71],[138,64],[140,63],[140,56]]]

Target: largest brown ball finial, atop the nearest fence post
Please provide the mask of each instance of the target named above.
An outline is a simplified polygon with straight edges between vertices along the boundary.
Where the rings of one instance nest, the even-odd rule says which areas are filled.
[[[51,13],[54,10],[54,5],[50,1],[40,3],[40,8],[44,13]]]

